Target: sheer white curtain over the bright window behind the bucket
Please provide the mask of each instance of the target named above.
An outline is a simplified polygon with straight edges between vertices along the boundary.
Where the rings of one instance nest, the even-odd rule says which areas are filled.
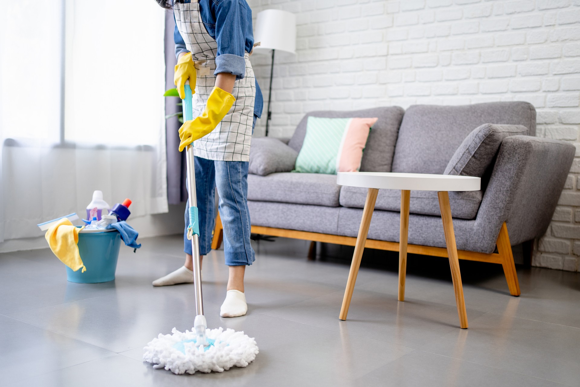
[[[19,0],[0,12],[0,241],[93,190],[168,211],[164,12],[142,0]]]

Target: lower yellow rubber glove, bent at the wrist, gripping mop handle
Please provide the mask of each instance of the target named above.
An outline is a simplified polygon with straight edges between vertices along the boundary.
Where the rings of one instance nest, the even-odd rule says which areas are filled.
[[[226,117],[227,112],[234,104],[235,98],[227,91],[223,91],[217,86],[213,87],[209,94],[208,103],[201,115],[194,120],[183,122],[179,128],[179,151],[182,151],[189,144],[213,131],[220,121]]]

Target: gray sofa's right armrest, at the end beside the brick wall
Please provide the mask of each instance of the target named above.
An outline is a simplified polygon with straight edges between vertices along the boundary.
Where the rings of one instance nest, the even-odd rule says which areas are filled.
[[[543,235],[574,160],[575,147],[532,136],[503,139],[477,213],[474,251],[493,252],[502,223],[512,245]]]

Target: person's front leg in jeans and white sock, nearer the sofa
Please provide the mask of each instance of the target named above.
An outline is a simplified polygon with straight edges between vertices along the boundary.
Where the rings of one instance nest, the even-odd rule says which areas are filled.
[[[248,310],[244,294],[245,266],[252,265],[255,253],[250,244],[248,210],[248,162],[215,161],[219,212],[223,225],[226,265],[229,267],[226,300],[222,317],[243,316]]]

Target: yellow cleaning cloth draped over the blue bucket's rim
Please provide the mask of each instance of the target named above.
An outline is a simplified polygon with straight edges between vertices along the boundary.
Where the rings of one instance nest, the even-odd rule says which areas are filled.
[[[73,226],[70,220],[63,218],[51,226],[44,236],[56,258],[75,272],[82,267],[81,273],[86,272],[86,267],[82,264],[81,255],[78,254],[77,243],[78,232],[84,228],[83,226],[79,229]]]

